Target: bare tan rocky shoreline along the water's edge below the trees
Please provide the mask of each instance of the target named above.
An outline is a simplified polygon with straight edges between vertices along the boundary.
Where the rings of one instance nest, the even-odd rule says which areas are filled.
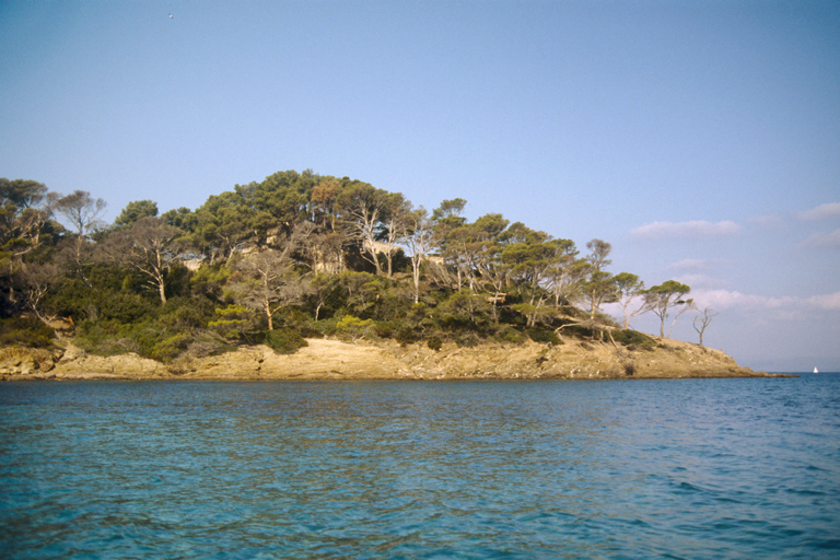
[[[108,358],[71,342],[52,351],[0,349],[0,380],[595,380],[779,377],[742,368],[720,350],[678,340],[628,350],[609,342],[547,346],[483,343],[472,348],[308,339],[294,354],[268,347],[161,363],[137,354]]]

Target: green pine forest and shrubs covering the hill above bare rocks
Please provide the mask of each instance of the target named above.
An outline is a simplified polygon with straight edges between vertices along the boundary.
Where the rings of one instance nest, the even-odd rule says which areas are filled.
[[[128,203],[114,223],[84,190],[0,179],[0,345],[136,352],[170,362],[306,338],[561,345],[578,337],[654,346],[692,312],[702,346],[714,316],[675,280],[612,273],[611,246],[579,248],[501,213],[469,222],[467,201],[431,211],[349,177],[278,172],[199,208]],[[604,313],[616,304],[620,317]]]

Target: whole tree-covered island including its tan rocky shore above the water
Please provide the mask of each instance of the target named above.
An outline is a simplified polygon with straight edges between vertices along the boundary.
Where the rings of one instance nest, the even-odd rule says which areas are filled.
[[[611,272],[603,240],[469,221],[460,198],[430,212],[287,171],[110,224],[83,190],[0,179],[0,200],[3,380],[768,375],[704,346],[716,314],[690,287]],[[680,317],[697,342],[670,338]]]

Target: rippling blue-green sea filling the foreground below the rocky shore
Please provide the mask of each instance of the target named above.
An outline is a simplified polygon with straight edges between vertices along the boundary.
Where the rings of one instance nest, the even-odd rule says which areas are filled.
[[[3,559],[837,559],[840,374],[0,384]]]

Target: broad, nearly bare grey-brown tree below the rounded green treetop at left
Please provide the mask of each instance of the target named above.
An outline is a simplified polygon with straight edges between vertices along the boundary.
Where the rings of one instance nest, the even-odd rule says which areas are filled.
[[[147,279],[166,303],[166,275],[180,256],[182,231],[160,218],[141,218],[113,232],[100,245],[105,260],[130,266]]]

